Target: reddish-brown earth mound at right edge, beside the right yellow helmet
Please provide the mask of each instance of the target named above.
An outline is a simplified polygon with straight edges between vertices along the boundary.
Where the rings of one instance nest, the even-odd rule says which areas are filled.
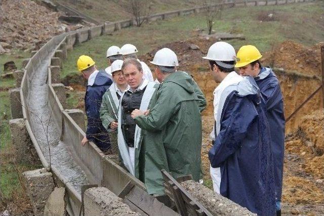
[[[262,60],[267,65],[298,71],[304,74],[320,75],[320,44],[305,47],[292,40],[282,42]]]

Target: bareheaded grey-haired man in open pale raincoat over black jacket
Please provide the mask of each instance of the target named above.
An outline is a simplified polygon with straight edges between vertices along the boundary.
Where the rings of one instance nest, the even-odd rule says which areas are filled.
[[[142,65],[135,58],[125,59],[121,71],[129,87],[119,99],[118,148],[126,168],[139,178],[138,156],[141,150],[142,133],[141,128],[131,117],[131,113],[135,109],[147,109],[158,84],[143,78]]]

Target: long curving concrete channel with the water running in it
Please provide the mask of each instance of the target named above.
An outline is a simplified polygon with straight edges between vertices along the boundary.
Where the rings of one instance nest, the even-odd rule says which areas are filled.
[[[231,7],[231,5],[228,5],[228,7]],[[166,19],[168,16],[197,13],[201,9],[203,8],[156,14],[149,19]],[[94,143],[90,142],[89,145],[84,147],[80,145],[85,133],[82,125],[78,125],[70,116],[70,112],[65,110],[63,106],[64,85],[59,86],[61,92],[58,93],[55,91],[58,84],[52,83],[54,70],[51,70],[51,66],[62,67],[62,61],[66,58],[67,50],[71,50],[74,45],[95,36],[131,26],[132,23],[133,20],[104,23],[103,25],[54,36],[32,56],[24,69],[20,88],[23,119],[39,159],[45,167],[51,168],[56,183],[65,187],[66,209],[70,215],[79,215],[83,211],[83,186],[90,187],[89,185],[107,188],[113,194],[121,197],[132,210],[142,215],[156,215],[157,212],[159,215],[178,214],[160,202],[169,202],[167,205],[170,206],[172,205],[170,198],[166,201],[147,194],[142,182],[112,161],[109,156],[104,155]],[[62,95],[64,97],[61,97]],[[199,191],[200,187],[204,186],[191,187],[192,192]],[[201,192],[204,190],[202,188]],[[206,191],[204,191],[205,193]],[[247,215],[250,215],[251,212],[247,211],[246,208],[241,208],[226,198],[215,195],[212,191],[210,193],[214,197],[211,200],[214,201],[204,201],[200,198],[205,206],[214,206],[217,200],[223,206],[226,206],[226,211],[216,209],[212,212],[220,215],[236,215],[234,213],[236,211],[237,214],[246,212]],[[195,195],[195,198],[197,197],[199,196]],[[171,198],[174,198],[172,194]],[[224,199],[228,204],[224,202]],[[194,208],[196,206],[190,200],[189,204]],[[211,210],[211,208],[208,210]]]

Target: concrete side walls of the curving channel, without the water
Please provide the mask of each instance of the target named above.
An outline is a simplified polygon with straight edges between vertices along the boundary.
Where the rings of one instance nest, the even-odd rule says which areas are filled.
[[[294,2],[301,2],[300,0],[295,0]],[[306,0],[304,0],[306,1]],[[291,1],[263,1],[262,4],[287,4]],[[237,6],[239,4],[244,4],[247,6],[250,2],[240,2],[240,3],[226,3],[228,7]],[[256,1],[252,2],[254,5],[258,5]],[[168,13],[161,13],[151,15],[146,17],[147,20],[159,20],[166,19],[174,16],[188,15],[193,13],[198,13],[206,8],[196,7],[193,9],[185,9],[179,11],[173,11]],[[68,110],[65,110],[64,104],[66,100],[64,93],[64,86],[57,84],[57,74],[59,73],[59,68],[62,68],[62,62],[66,58],[67,51],[73,49],[73,46],[85,42],[93,37],[100,36],[104,33],[111,33],[113,31],[119,30],[120,28],[125,28],[134,25],[134,20],[123,20],[113,23],[104,23],[99,26],[79,29],[77,31],[63,33],[61,35],[54,36],[50,39],[40,50],[34,53],[34,55],[28,60],[25,68],[23,69],[24,75],[21,80],[21,85],[19,89],[21,110],[18,109],[17,112],[22,112],[22,116],[26,125],[26,129],[30,136],[30,139],[35,147],[39,159],[45,167],[49,167],[49,163],[46,160],[44,153],[39,147],[37,140],[33,134],[33,128],[35,122],[31,121],[31,116],[33,113],[28,109],[28,104],[33,103],[29,101],[28,94],[30,87],[32,85],[32,78],[34,71],[41,66],[44,61],[48,61],[49,56],[51,61],[48,64],[48,103],[52,108],[52,114],[54,116],[54,123],[59,128],[59,135],[61,141],[69,145],[69,150],[73,157],[73,160],[77,165],[82,168],[85,172],[89,184],[98,185],[106,187],[112,193],[118,195],[129,183],[137,186],[138,188],[145,190],[145,186],[138,179],[131,176],[125,169],[114,163],[111,159],[105,156],[97,146],[90,142],[89,145],[82,147],[80,145],[81,140],[85,136],[83,128],[80,127],[73,118],[69,115]],[[53,52],[54,51],[54,52]],[[53,73],[52,73],[53,70]],[[54,72],[55,71],[55,72]],[[19,115],[19,114],[18,114]],[[67,206],[66,209],[70,215],[79,214],[82,208],[82,195],[75,190],[73,185],[70,183],[64,183],[64,176],[61,176],[59,170],[55,167],[51,167],[53,176],[55,177],[56,184],[60,184],[65,187],[67,194]],[[212,191],[210,191],[213,193]],[[89,196],[88,196],[89,197]],[[88,200],[89,201],[89,200]],[[90,201],[89,201],[90,202]]]

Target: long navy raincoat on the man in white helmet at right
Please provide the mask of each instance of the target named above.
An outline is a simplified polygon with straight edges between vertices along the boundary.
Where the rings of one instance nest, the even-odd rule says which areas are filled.
[[[209,159],[221,168],[220,193],[254,213],[275,215],[270,131],[254,79],[227,87],[218,113]]]

